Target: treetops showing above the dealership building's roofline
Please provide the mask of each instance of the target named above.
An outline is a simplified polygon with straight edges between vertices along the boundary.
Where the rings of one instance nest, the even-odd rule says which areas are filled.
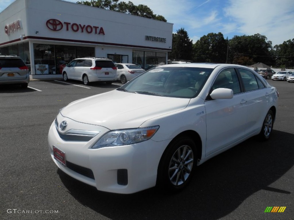
[[[146,5],[139,4],[136,6],[131,1],[128,1],[128,3],[118,1],[120,0],[91,0],[77,1],[76,3],[166,22],[162,15],[153,14],[153,11]]]

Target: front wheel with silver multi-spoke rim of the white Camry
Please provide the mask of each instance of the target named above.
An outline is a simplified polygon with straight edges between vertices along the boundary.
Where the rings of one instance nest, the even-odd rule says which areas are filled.
[[[157,186],[172,192],[186,187],[195,170],[196,155],[196,145],[191,138],[183,136],[172,141],[159,163]]]

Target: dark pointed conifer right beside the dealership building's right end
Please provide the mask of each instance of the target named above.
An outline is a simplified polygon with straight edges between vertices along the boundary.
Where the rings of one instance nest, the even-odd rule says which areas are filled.
[[[193,41],[190,40],[187,31],[181,28],[176,34],[173,34],[172,51],[169,53],[169,59],[192,60]]]

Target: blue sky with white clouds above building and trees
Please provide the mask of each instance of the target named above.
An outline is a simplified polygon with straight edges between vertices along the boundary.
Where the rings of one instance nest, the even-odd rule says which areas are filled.
[[[0,11],[14,0],[0,0]],[[77,0],[67,0],[76,2]],[[193,43],[208,33],[265,35],[272,45],[294,38],[293,0],[124,0],[145,4],[153,13],[173,23],[173,32],[184,28]]]

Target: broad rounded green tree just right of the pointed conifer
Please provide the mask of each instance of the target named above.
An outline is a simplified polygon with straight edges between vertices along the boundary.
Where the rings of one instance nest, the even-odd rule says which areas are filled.
[[[225,63],[228,42],[222,33],[204,35],[193,45],[194,60],[196,62]]]

